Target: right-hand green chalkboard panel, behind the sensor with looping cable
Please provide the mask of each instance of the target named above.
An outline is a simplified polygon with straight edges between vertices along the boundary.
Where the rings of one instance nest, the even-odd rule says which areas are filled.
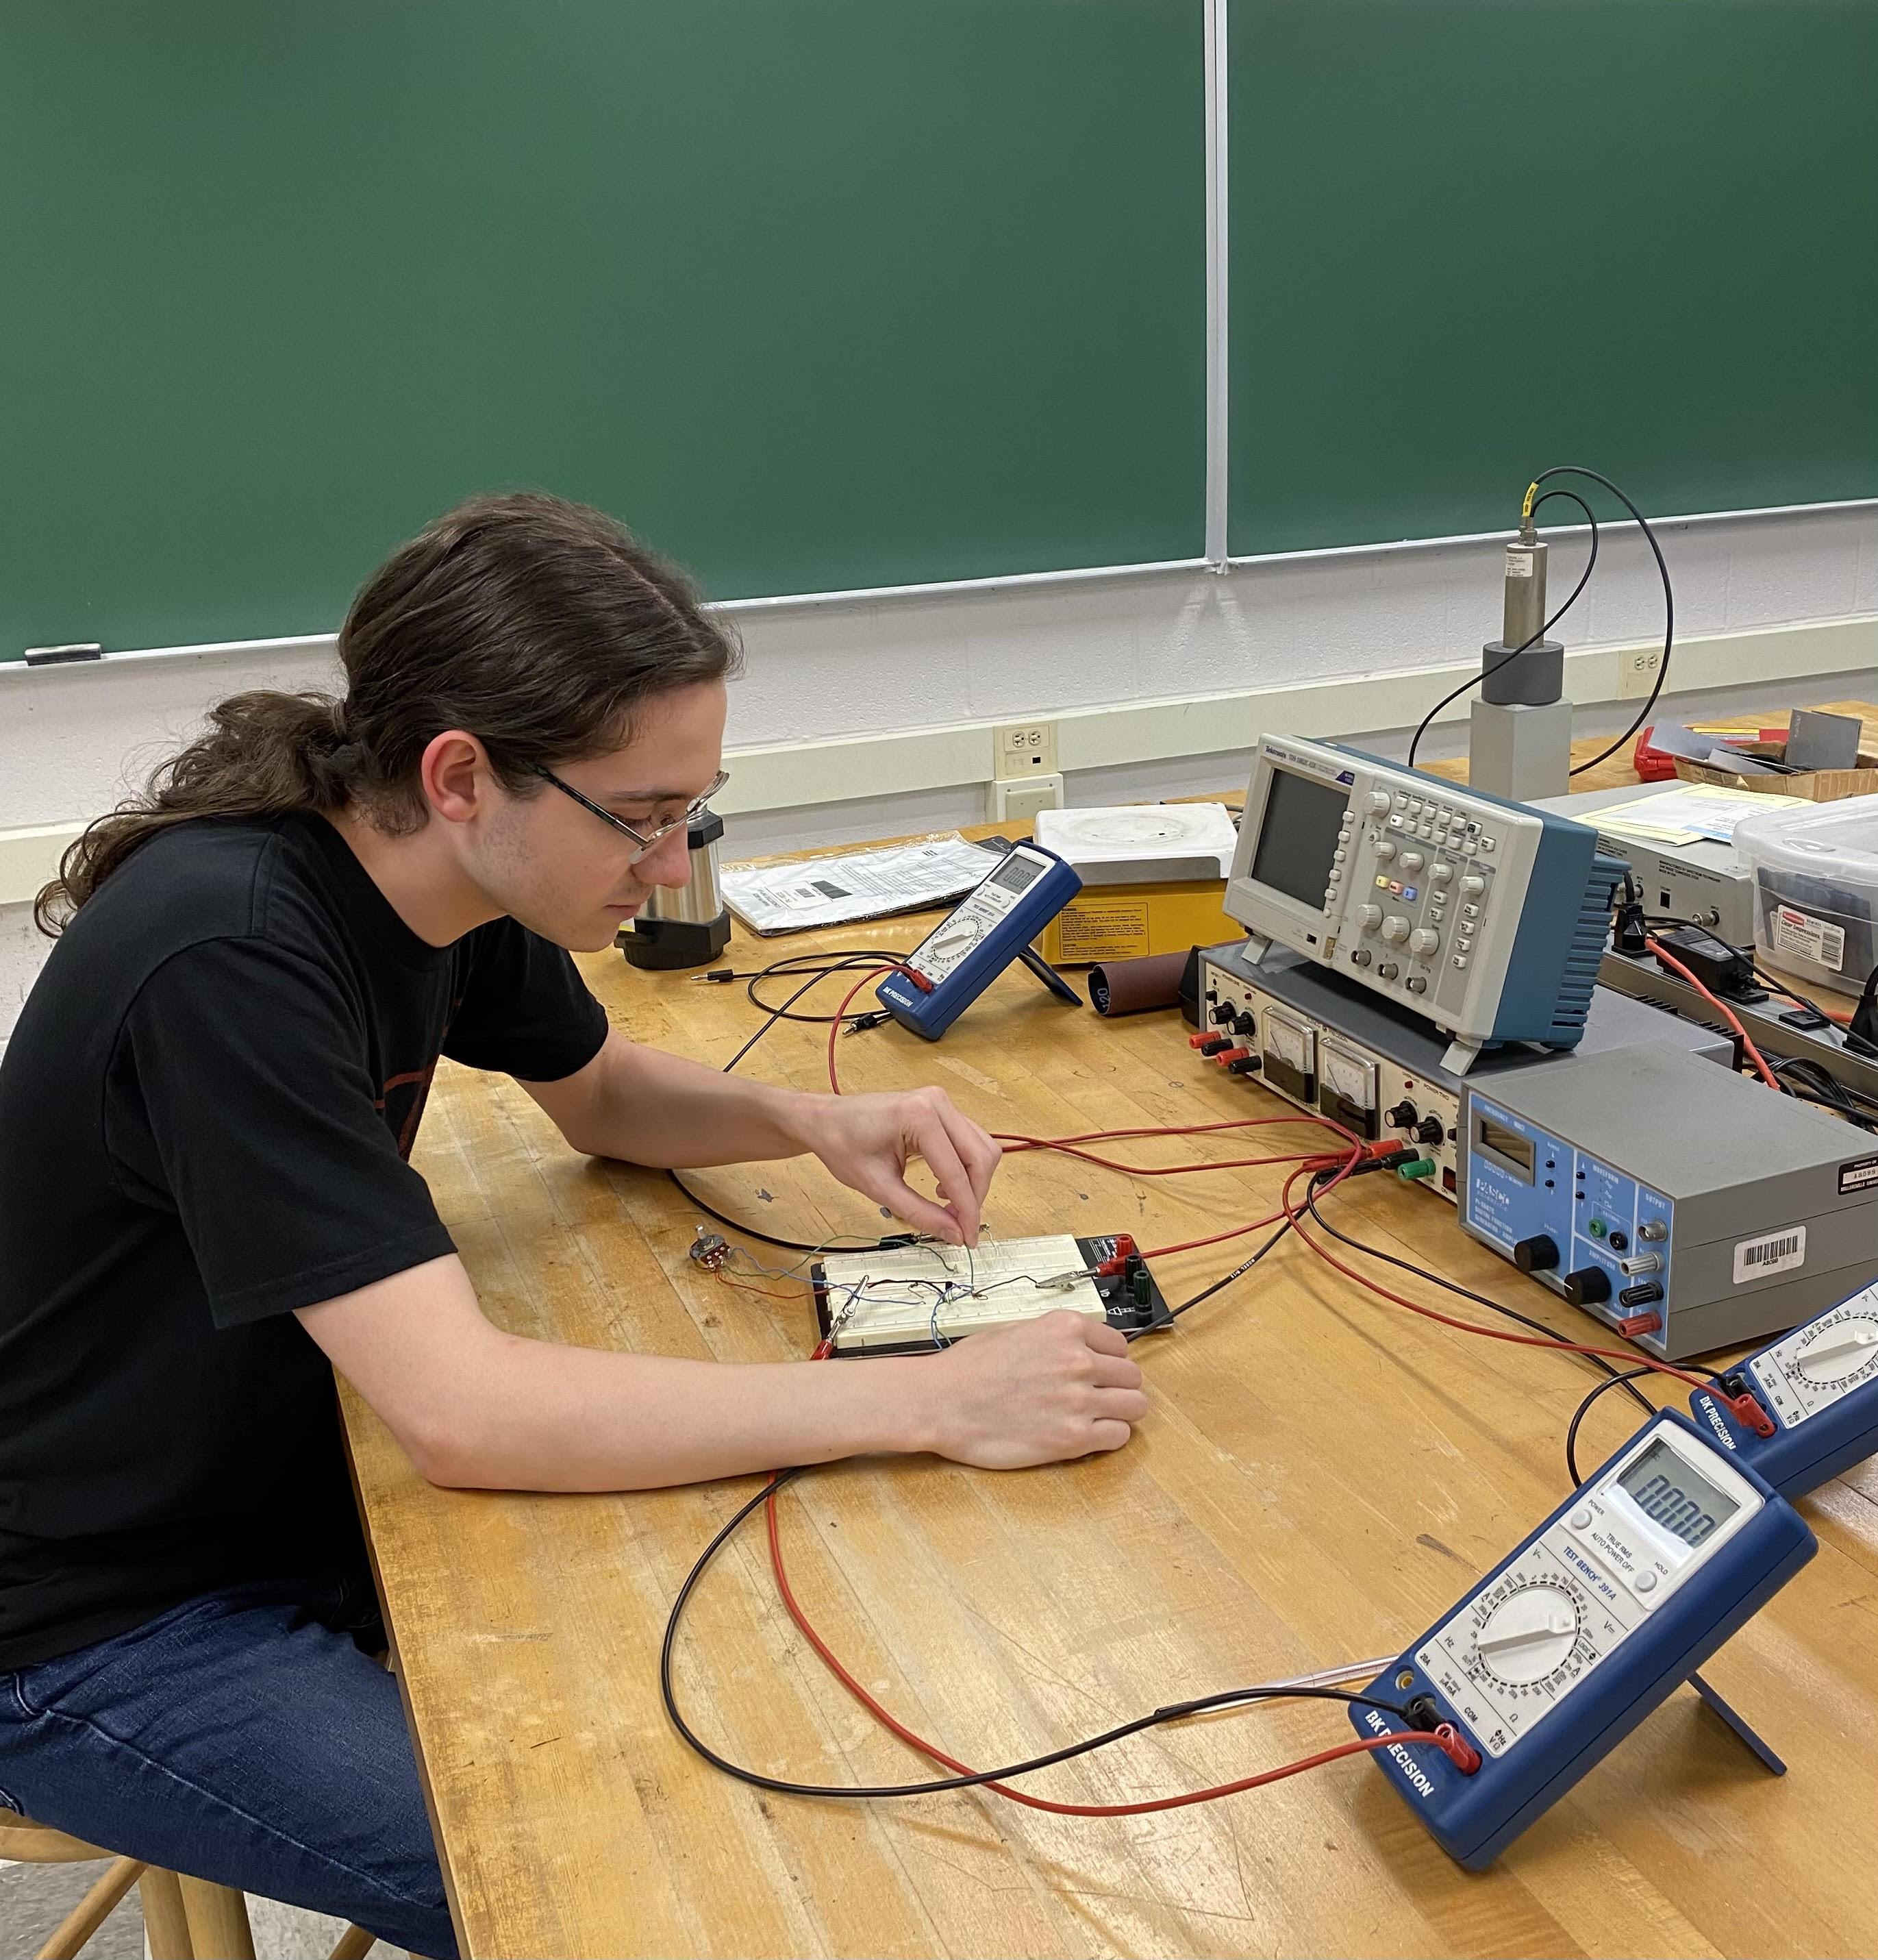
[[[1874,0],[1233,0],[1229,82],[1235,553],[1878,494]]]

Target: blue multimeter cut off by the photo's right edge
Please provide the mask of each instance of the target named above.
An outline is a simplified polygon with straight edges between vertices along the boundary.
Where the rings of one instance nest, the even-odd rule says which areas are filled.
[[[1705,1390],[1690,1396],[1698,1429],[1766,1478],[1782,1497],[1804,1497],[1878,1452],[1878,1282],[1729,1370],[1772,1415],[1756,1437]]]

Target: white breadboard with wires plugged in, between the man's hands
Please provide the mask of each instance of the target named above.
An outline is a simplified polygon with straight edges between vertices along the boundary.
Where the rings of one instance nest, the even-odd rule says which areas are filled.
[[[1013,1327],[1068,1307],[1106,1321],[1092,1260],[1063,1233],[1049,1239],[986,1239],[976,1247],[904,1245],[874,1252],[831,1252],[815,1268],[835,1352],[937,1347],[961,1335]],[[1074,1278],[1072,1278],[1074,1276]],[[1039,1284],[1057,1280],[1059,1284]]]

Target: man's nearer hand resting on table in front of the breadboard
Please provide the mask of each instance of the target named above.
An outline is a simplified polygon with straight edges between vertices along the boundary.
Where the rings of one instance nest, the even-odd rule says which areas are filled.
[[[1119,1329],[1059,1307],[921,1362],[933,1448],[980,1470],[1119,1450],[1147,1415]]]

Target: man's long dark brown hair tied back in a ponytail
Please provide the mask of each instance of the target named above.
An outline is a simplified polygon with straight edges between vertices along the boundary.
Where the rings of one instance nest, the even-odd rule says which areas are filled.
[[[159,831],[190,817],[357,806],[400,833],[425,819],[431,737],[480,737],[516,794],[535,764],[606,755],[655,694],[723,680],[735,641],[696,590],[604,512],[549,496],[476,498],[365,582],[339,631],[345,700],[235,694],[141,796],[92,821],[33,904],[71,915]]]

